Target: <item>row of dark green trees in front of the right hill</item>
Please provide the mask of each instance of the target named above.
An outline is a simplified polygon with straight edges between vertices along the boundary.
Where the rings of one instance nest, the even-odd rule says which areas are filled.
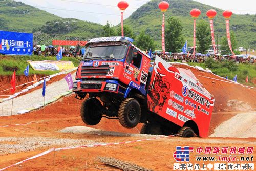
[[[150,34],[146,33],[145,30],[141,30],[139,35],[135,36],[131,27],[124,25],[124,36],[133,38],[135,40],[134,44],[142,50],[155,50],[161,49],[157,47],[157,44]],[[120,36],[121,27],[115,28],[109,22],[103,26],[102,36]],[[159,30],[159,36],[161,36],[161,30]],[[193,35],[191,35],[192,37]],[[237,48],[236,36],[231,31],[230,32],[232,48]],[[196,27],[196,46],[197,52],[205,54],[205,51],[209,49],[209,46],[212,44],[211,33],[209,23],[205,20],[199,20]],[[165,22],[165,50],[168,52],[180,52],[185,43],[184,29],[181,24],[181,21],[177,17],[169,17]],[[228,47],[227,38],[223,36],[218,42],[219,45],[222,45],[220,50],[222,54],[230,54],[231,51]],[[239,52],[234,51],[234,53],[239,54]]]

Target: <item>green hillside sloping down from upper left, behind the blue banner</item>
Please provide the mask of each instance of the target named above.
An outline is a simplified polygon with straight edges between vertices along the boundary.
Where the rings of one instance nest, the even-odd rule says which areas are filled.
[[[22,2],[0,0],[0,4],[0,30],[82,38],[98,37],[103,31],[100,24],[74,18],[63,19]]]

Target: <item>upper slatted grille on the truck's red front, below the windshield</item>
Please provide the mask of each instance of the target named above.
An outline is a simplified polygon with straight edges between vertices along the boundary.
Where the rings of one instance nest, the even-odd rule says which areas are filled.
[[[109,66],[82,66],[81,76],[95,76],[95,75],[107,75]]]

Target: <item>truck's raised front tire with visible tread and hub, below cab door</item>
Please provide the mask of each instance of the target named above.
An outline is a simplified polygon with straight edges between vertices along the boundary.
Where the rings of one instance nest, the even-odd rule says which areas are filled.
[[[123,127],[133,128],[140,122],[140,103],[134,98],[125,99],[118,110],[119,122]]]

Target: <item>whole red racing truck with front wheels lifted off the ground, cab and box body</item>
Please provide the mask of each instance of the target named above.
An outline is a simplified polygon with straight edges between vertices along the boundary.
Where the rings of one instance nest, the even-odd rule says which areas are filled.
[[[157,57],[154,64],[129,37],[93,38],[86,44],[73,92],[84,99],[81,118],[96,125],[102,117],[122,126],[144,123],[144,134],[207,137],[214,98],[190,70]]]

